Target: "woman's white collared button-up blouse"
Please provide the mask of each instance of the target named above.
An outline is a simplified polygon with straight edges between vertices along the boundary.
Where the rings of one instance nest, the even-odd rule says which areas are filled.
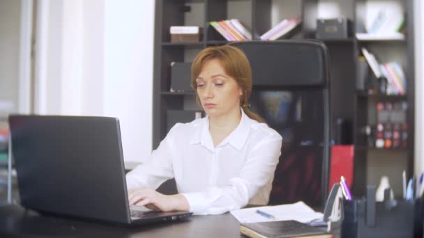
[[[282,137],[241,113],[239,126],[216,147],[207,116],[177,123],[149,161],[126,175],[127,189],[156,189],[175,178],[195,214],[222,214],[248,203],[266,205]]]

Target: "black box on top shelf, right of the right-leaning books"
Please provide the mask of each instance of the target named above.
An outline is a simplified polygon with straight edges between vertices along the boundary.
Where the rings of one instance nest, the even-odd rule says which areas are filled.
[[[317,19],[317,39],[347,39],[351,35],[351,21],[347,18]]]

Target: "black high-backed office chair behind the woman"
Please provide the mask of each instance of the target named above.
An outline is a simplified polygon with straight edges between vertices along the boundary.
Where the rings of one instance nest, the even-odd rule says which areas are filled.
[[[232,42],[252,67],[252,111],[282,134],[270,204],[324,207],[331,109],[328,51],[316,40]]]

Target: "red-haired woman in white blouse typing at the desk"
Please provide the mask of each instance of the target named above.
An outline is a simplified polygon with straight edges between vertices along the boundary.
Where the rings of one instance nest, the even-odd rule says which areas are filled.
[[[149,161],[126,175],[130,205],[195,214],[266,205],[282,138],[248,109],[248,58],[229,45],[208,47],[192,63],[191,76],[208,116],[177,123]],[[153,190],[171,178],[178,194]]]

